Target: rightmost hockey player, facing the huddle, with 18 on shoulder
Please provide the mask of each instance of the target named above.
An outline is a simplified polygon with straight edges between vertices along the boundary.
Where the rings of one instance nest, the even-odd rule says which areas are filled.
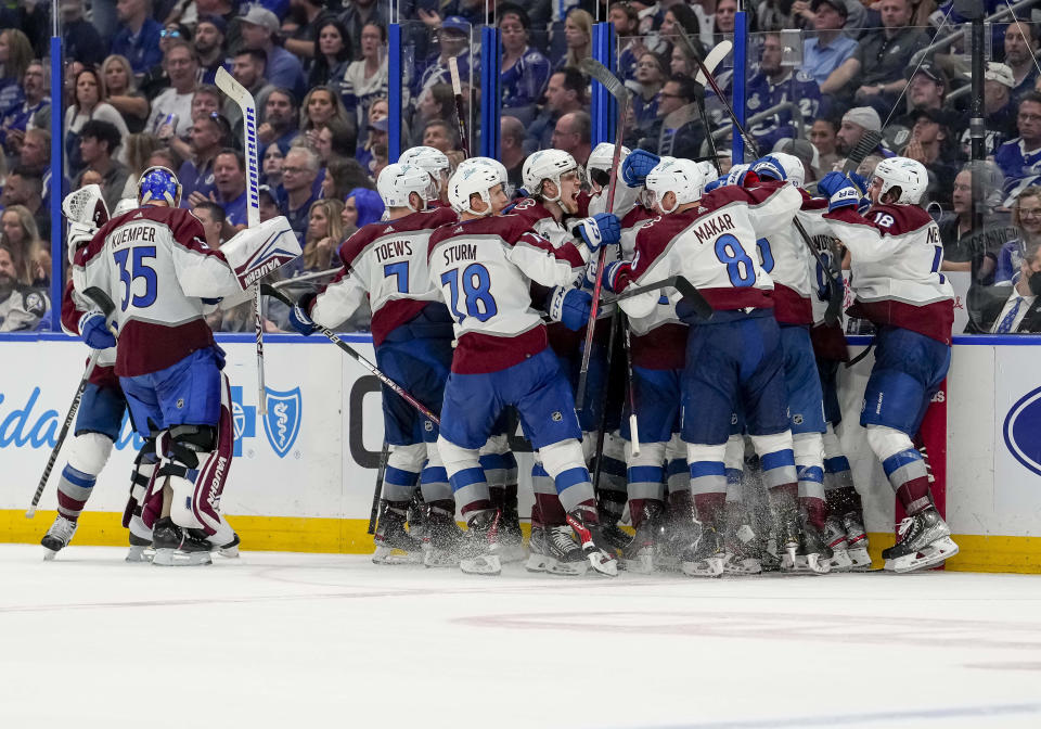
[[[818,184],[828,196],[824,217],[850,253],[857,303],[849,314],[877,328],[860,422],[908,514],[897,543],[883,551],[886,570],[894,572],[931,567],[958,553],[933,503],[925,462],[912,444],[947,376],[954,320],[953,290],[939,272],[939,228],[918,205],[927,186],[921,163],[884,159],[868,190],[874,205],[861,216],[860,191],[841,172],[830,172]]]

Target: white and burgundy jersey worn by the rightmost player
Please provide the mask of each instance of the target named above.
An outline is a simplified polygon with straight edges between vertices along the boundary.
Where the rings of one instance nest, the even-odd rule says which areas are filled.
[[[850,253],[850,316],[951,344],[954,290],[940,273],[939,226],[917,205],[844,207],[824,216]]]

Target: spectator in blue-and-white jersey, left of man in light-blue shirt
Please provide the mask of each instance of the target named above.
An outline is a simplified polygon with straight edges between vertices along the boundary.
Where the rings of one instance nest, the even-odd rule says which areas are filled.
[[[756,114],[777,104],[795,101],[799,104],[802,123],[806,124],[821,112],[821,90],[813,77],[805,71],[783,65],[783,57],[781,34],[766,34],[762,39],[759,73],[748,80],[748,112]],[[773,146],[779,139],[797,136],[791,110],[773,114],[753,126],[749,131],[763,148]],[[798,131],[801,132],[801,129]]]

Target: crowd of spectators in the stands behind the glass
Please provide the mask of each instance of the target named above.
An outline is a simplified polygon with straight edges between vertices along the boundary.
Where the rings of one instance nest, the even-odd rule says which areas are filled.
[[[901,154],[929,169],[929,209],[947,252],[944,270],[980,285],[1015,285],[1037,258],[1041,209],[1039,25],[1031,8],[992,25],[984,105],[988,226],[1016,226],[1015,241],[980,256],[973,242],[969,158],[971,64],[966,40],[930,44],[960,27],[937,0],[751,0],[747,114],[763,150],[804,159],[808,184],[840,165],[865,131],[884,142],[869,159]],[[992,13],[1003,0],[982,0]],[[723,104],[695,81],[694,53],[733,37],[736,0],[591,0],[525,3],[403,2],[403,114],[389,118],[389,3],[381,0],[61,0],[64,85],[50,88],[50,3],[0,8],[0,299],[47,293],[50,197],[101,184],[110,209],[132,196],[138,176],[162,164],[178,172],[182,205],[205,220],[214,246],[246,225],[243,119],[215,86],[226,68],[259,113],[264,215],[285,215],[305,254],[287,272],[337,265],[339,244],[378,220],[374,180],[389,136],[402,149],[435,146],[463,158],[449,75],[455,59],[464,114],[480,102],[479,27],[501,31],[501,154],[511,187],[525,157],[553,146],[584,163],[593,138],[590,79],[595,17],[618,36],[617,69],[632,91],[624,138],[659,155],[730,164]],[[488,15],[486,16],[486,12]],[[797,31],[793,34],[792,31]],[[684,42],[681,34],[689,37]],[[733,56],[716,76],[730,94]],[[51,179],[51,106],[61,100],[64,169]],[[480,133],[471,130],[471,149]],[[53,192],[52,192],[53,191]],[[1034,201],[1030,203],[1030,201]],[[967,241],[967,243],[966,243]],[[1007,250],[1006,250],[1007,248]],[[1026,261],[1026,263],[1025,263]],[[1007,276],[1006,276],[1007,274]],[[1031,299],[1032,303],[1032,299]],[[0,305],[0,317],[5,305]],[[0,331],[33,328],[5,317]],[[29,322],[28,324],[26,322]],[[224,331],[248,317],[215,316]],[[272,329],[279,323],[270,322]]]

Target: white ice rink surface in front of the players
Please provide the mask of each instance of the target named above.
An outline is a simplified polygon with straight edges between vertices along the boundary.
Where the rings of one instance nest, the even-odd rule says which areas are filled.
[[[1041,727],[1041,576],[0,546],[0,727]],[[318,724],[320,722],[320,724]]]

